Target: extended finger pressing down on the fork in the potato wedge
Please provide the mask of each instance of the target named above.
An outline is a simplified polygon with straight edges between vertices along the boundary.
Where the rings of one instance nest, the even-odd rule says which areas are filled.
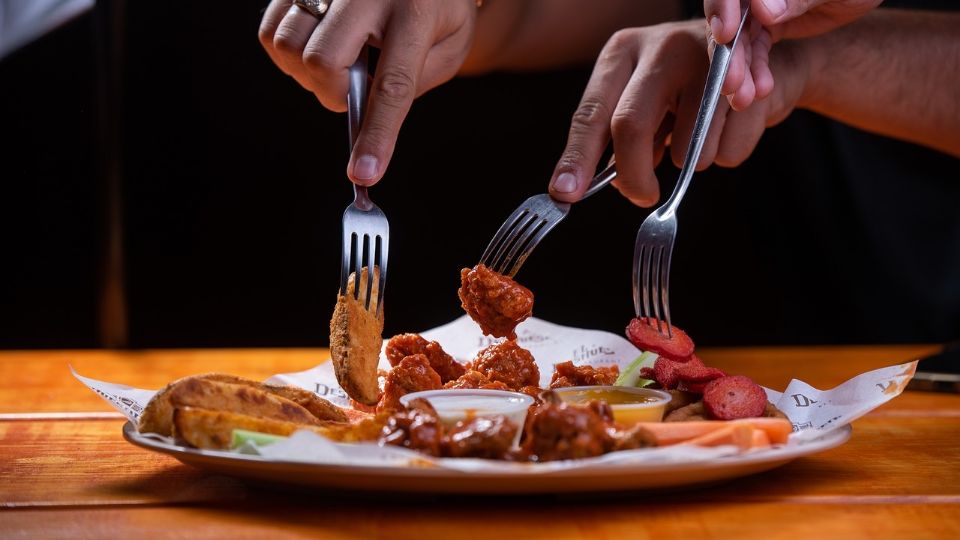
[[[373,77],[367,115],[353,147],[347,174],[360,185],[373,185],[393,156],[397,135],[413,99],[431,43],[429,13],[395,12],[384,32],[383,49]]]

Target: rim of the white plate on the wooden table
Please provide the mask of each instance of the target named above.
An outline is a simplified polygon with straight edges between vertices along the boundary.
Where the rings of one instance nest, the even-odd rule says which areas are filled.
[[[650,490],[715,483],[767,471],[802,456],[835,448],[850,438],[849,425],[799,444],[686,463],[630,463],[577,467],[546,473],[509,470],[462,472],[411,466],[344,466],[273,461],[260,456],[197,450],[144,437],[133,424],[123,426],[129,442],[169,454],[201,469],[276,484],[295,484],[355,491],[411,493],[519,494],[589,493]],[[531,467],[536,467],[531,464]]]

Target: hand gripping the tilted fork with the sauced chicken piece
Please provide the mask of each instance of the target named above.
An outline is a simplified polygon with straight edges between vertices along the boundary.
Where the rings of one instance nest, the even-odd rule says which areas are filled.
[[[631,202],[649,207],[660,198],[657,164],[670,150],[682,166],[709,67],[703,22],[687,21],[621,30],[597,60],[573,115],[567,146],[550,194],[576,202],[586,191],[609,140],[617,160],[613,185]],[[770,69],[781,84],[743,111],[725,100],[717,109],[696,169],[735,167],[763,131],[782,121],[807,90],[809,69],[801,42],[773,51]]]

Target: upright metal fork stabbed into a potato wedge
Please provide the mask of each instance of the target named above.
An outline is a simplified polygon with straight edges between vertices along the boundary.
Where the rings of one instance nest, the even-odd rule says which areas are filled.
[[[350,66],[350,90],[347,94],[350,148],[357,142],[367,107],[367,57],[364,46],[360,57]],[[366,186],[353,184],[353,203],[343,212],[343,244],[340,252],[340,294],[353,294],[364,301],[364,308],[383,316],[383,291],[387,283],[387,249],[390,224],[380,207],[367,195]],[[354,286],[348,289],[350,275]],[[376,294],[373,284],[377,283]],[[366,285],[364,287],[364,285]],[[365,289],[361,294],[361,289]]]

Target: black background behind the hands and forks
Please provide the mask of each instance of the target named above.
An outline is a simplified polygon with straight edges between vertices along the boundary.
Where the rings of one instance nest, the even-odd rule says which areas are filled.
[[[324,346],[346,118],[257,41],[265,1],[129,2],[120,165],[130,346]],[[102,242],[93,14],[0,61],[0,348],[96,347]],[[546,189],[590,66],[457,79],[413,106],[371,196],[391,221],[385,335],[462,311],[459,270]],[[668,194],[678,171],[658,170]],[[680,211],[674,322],[701,345],[960,337],[958,160],[807,113]],[[621,332],[649,210],[574,206],[517,279],[535,315]]]

